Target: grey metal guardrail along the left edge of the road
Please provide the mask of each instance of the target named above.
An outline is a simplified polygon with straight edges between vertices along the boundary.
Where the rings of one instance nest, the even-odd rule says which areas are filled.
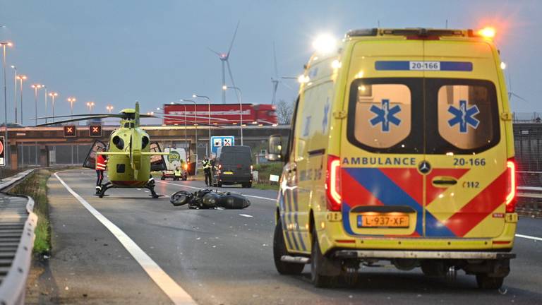
[[[6,191],[25,179],[34,169],[4,179]],[[26,279],[32,260],[37,215],[34,201],[27,196],[0,193],[0,304],[25,303]]]

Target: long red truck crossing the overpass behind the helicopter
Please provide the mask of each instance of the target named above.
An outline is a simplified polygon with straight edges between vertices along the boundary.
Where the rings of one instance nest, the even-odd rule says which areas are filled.
[[[232,125],[241,121],[243,124],[273,125],[278,123],[276,107],[272,104],[211,104],[211,124]],[[208,124],[208,104],[164,104],[164,125]]]

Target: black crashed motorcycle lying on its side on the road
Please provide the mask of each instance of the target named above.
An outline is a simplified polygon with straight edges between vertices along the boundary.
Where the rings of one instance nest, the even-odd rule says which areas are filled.
[[[241,194],[230,192],[212,191],[204,189],[190,193],[178,191],[169,197],[169,202],[175,206],[188,204],[190,209],[243,209],[251,205],[251,202]]]

